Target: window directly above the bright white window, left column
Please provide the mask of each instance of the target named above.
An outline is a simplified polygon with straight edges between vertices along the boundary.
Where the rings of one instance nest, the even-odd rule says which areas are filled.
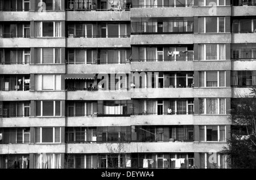
[[[60,64],[60,48],[35,48],[35,64]]]

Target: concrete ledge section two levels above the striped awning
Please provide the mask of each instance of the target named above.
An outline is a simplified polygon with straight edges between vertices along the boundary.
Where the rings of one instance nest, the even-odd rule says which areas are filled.
[[[130,48],[130,38],[67,38],[67,48]]]

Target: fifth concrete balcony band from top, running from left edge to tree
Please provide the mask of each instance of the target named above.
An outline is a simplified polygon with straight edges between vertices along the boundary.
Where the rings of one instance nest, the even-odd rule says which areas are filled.
[[[1,127],[87,127],[130,126],[130,125],[226,125],[230,124],[229,115],[132,115],[129,117],[80,116],[67,118],[1,118]]]

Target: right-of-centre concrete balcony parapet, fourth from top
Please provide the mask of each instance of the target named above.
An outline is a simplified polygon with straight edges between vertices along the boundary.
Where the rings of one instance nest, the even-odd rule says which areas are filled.
[[[131,89],[131,98],[193,98],[193,88]]]

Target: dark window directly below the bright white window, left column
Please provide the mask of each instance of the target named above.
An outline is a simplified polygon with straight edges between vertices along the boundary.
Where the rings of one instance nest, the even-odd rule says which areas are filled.
[[[61,116],[60,101],[36,101],[36,116]]]

